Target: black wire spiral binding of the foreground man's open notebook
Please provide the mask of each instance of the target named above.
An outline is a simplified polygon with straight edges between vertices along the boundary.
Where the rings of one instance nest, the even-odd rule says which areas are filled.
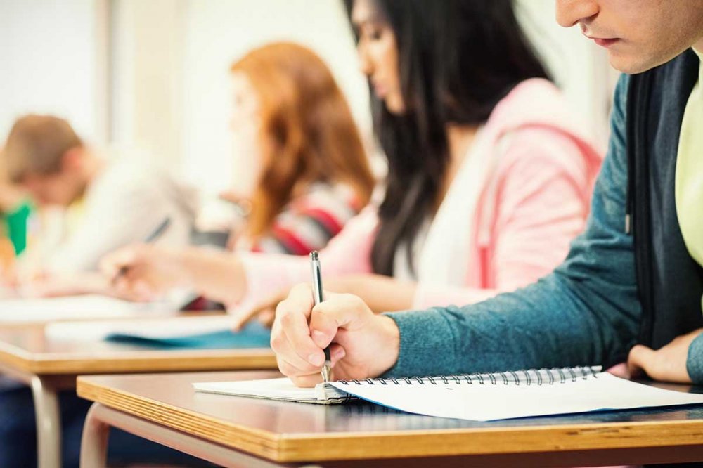
[[[376,379],[340,380],[344,385],[553,385],[576,382],[578,379],[598,378],[600,366],[579,366],[574,368],[543,368],[490,374],[439,375],[437,377],[389,377]]]

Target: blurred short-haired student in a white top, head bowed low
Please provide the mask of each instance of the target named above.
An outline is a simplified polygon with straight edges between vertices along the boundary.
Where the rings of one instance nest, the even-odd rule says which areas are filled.
[[[27,115],[15,122],[1,155],[10,180],[39,207],[70,208],[74,216],[44,259],[49,275],[96,271],[102,255],[143,240],[165,218],[171,223],[160,242],[188,243],[193,190],[144,158],[120,156],[108,159],[58,117]]]

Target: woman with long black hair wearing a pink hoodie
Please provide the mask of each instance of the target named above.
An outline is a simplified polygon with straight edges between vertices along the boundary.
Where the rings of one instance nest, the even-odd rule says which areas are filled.
[[[328,287],[385,311],[474,302],[548,273],[583,228],[600,156],[512,1],[356,0],[349,11],[388,173],[380,205],[321,252]],[[294,256],[156,252],[123,249],[105,268],[138,267],[123,290],[187,285],[239,304],[240,322],[309,276]]]

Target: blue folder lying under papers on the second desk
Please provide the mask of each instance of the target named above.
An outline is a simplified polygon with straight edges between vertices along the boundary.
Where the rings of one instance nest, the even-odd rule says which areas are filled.
[[[259,322],[252,322],[239,332],[218,330],[179,337],[154,338],[138,334],[112,333],[106,337],[110,342],[136,344],[162,349],[247,349],[268,348],[271,330]]]

